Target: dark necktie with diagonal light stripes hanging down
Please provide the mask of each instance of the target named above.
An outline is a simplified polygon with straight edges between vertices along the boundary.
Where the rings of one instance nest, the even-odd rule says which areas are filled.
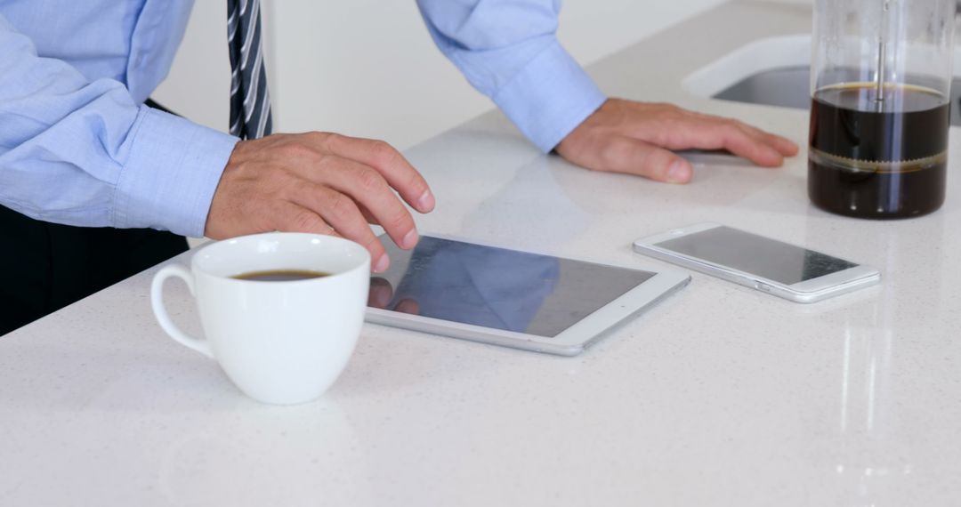
[[[259,0],[227,0],[231,53],[231,133],[256,139],[270,133],[270,93],[260,43]]]

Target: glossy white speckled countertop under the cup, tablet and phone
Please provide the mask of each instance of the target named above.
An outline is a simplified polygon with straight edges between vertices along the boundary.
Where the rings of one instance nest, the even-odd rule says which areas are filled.
[[[590,68],[609,93],[736,116],[806,144],[804,111],[692,97],[681,79],[809,7],[734,3]],[[959,131],[950,134],[957,154]],[[499,114],[407,152],[422,230],[664,266],[639,236],[713,220],[882,270],[801,305],[694,274],[574,358],[366,325],[322,399],[241,395],[155,323],[156,268],[0,338],[0,505],[957,505],[961,159],[929,216],[809,204],[806,159],[699,164],[686,186],[538,155]],[[184,260],[184,259],[181,259]],[[185,288],[167,304],[198,327]]]

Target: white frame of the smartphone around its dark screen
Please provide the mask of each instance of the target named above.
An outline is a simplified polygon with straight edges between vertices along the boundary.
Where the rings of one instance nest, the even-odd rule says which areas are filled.
[[[678,264],[685,268],[690,268],[707,275],[711,275],[717,278],[726,279],[727,281],[732,281],[739,285],[744,285],[746,287],[751,287],[752,289],[772,294],[779,298],[783,298],[792,302],[819,302],[827,298],[837,296],[840,294],[848,293],[850,291],[877,283],[880,280],[880,273],[870,266],[865,266],[863,264],[858,264],[852,268],[846,269],[844,271],[839,271],[837,273],[831,273],[830,275],[825,275],[823,277],[811,278],[807,280],[802,280],[797,283],[783,283],[780,281],[773,280],[771,278],[761,277],[749,272],[741,271],[738,269],[725,266],[723,264],[718,264],[716,262],[711,262],[701,257],[688,254],[680,254],[673,250],[668,250],[665,248],[658,247],[657,244],[669,239],[676,239],[678,237],[696,234],[704,230],[716,229],[719,227],[728,227],[723,224],[717,224],[714,222],[705,222],[702,224],[695,224],[692,226],[687,226],[678,229],[671,229],[666,232],[659,234],[653,234],[651,236],[646,236],[634,241],[634,252],[639,254],[647,254],[654,258],[658,258],[673,264]],[[736,228],[730,228],[736,229]],[[794,243],[788,243],[786,241],[781,241],[776,238],[764,236],[757,234],[756,232],[749,232],[772,241],[778,241],[791,245],[796,248],[813,251],[809,248],[796,245]],[[825,254],[825,253],[820,253]],[[825,254],[835,258],[836,255]],[[849,261],[850,262],[850,261]]]

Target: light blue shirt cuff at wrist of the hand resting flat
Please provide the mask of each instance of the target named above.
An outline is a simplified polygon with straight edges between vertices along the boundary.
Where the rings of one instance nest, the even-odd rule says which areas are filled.
[[[556,41],[493,97],[510,121],[544,153],[553,150],[606,99]]]

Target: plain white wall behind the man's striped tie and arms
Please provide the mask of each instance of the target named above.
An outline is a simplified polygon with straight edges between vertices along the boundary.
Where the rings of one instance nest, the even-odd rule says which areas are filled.
[[[723,0],[568,0],[559,37],[582,64]],[[275,130],[335,131],[404,149],[490,109],[431,41],[413,0],[261,0]],[[226,130],[226,13],[197,0],[154,97]]]

